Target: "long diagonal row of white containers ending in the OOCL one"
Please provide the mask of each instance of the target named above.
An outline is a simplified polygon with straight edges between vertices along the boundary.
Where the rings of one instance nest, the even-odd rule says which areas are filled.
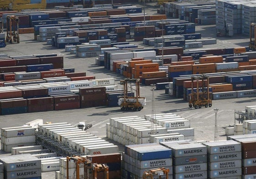
[[[116,153],[118,147],[102,138],[87,133],[68,123],[52,123],[39,126],[38,138],[60,143],[63,150],[73,150],[89,155]],[[49,142],[49,145],[52,143]],[[68,148],[68,149],[65,149]]]

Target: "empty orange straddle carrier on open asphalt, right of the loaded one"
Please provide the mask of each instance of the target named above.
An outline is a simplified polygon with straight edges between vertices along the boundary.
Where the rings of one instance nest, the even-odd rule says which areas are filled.
[[[212,107],[212,100],[209,93],[209,77],[205,75],[200,75],[197,77],[191,77],[192,81],[192,91],[189,94],[189,107],[194,107],[195,109],[204,107]],[[196,80],[196,92],[193,90],[193,82]],[[202,87],[199,88],[199,81],[202,81]]]

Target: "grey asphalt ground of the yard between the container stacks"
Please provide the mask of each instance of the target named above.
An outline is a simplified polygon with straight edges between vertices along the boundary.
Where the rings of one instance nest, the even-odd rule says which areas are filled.
[[[146,13],[155,14],[157,12],[156,3],[146,4]],[[142,3],[136,4],[143,6]],[[235,35],[233,37],[216,37],[215,26],[196,26],[196,33],[201,33],[202,38],[216,38],[217,44],[203,46],[203,48],[223,48],[223,47],[240,47],[248,46],[249,37],[242,35]],[[135,42],[128,40],[133,44],[138,44],[144,48],[142,42]],[[19,44],[7,44],[5,48],[0,48],[0,54],[7,54],[10,56],[25,56],[35,54],[58,54],[64,56],[64,68],[75,68],[75,72],[86,72],[88,76],[95,76],[96,79],[115,78],[115,85],[119,84],[120,79],[124,77],[120,74],[110,72],[104,69],[103,66],[95,65],[95,57],[78,58],[65,52],[64,49],[57,49],[46,42],[39,42],[34,40],[34,34],[21,34]],[[88,132],[105,138],[105,123],[109,122],[109,118],[124,117],[124,116],[139,116],[144,117],[145,114],[152,113],[152,88],[149,86],[140,87],[141,97],[146,97],[146,106],[140,111],[121,111],[120,107],[91,107],[74,110],[63,111],[49,111],[39,113],[24,113],[14,115],[0,116],[0,128],[21,126],[24,123],[35,119],[43,119],[44,122],[68,122],[72,125],[77,125],[79,122],[93,124]],[[155,113],[174,113],[187,118],[191,121],[191,128],[195,129],[195,140],[214,140],[214,119],[215,113],[213,108],[218,108],[218,138],[223,140],[225,136],[225,127],[233,126],[235,123],[235,111],[243,111],[245,106],[252,106],[256,103],[255,97],[235,98],[214,100],[213,106],[208,108],[194,109],[188,107],[188,102],[183,99],[178,99],[165,94],[164,90],[154,91]],[[120,146],[120,152],[122,146]],[[55,179],[54,172],[47,172],[42,174],[42,179]]]

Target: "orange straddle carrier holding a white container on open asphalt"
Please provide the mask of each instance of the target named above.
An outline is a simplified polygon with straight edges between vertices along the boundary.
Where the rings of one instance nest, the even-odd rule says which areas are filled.
[[[128,96],[128,82],[135,82],[136,84],[135,97]],[[141,111],[141,109],[143,109],[144,106],[139,102],[139,98],[141,98],[140,97],[140,79],[125,78],[124,80],[120,80],[120,84],[124,85],[124,101],[121,102],[120,104],[121,110]]]

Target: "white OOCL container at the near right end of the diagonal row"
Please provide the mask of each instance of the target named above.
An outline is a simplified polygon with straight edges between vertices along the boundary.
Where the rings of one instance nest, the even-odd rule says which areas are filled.
[[[105,147],[92,147],[86,149],[87,155],[96,155],[96,154],[107,154],[107,153],[118,153],[118,146],[111,145]]]

